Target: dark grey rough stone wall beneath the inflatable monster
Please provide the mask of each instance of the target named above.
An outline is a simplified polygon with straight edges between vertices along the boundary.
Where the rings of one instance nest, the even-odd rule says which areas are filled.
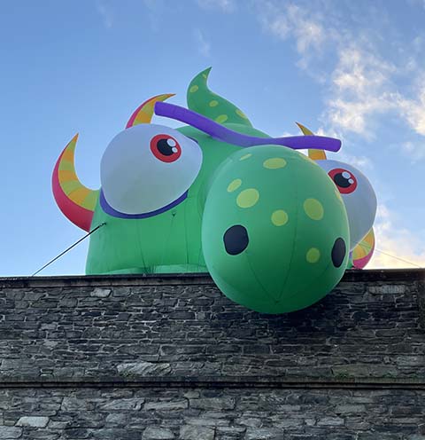
[[[206,275],[0,279],[0,439],[425,440],[424,279],[281,316]]]

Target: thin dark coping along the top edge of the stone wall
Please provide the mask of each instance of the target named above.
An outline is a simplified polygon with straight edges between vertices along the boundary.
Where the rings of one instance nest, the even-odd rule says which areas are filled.
[[[371,269],[345,271],[341,282],[425,281],[424,269]],[[214,285],[208,273],[149,275],[63,275],[49,277],[0,277],[0,288],[22,287],[120,287]]]

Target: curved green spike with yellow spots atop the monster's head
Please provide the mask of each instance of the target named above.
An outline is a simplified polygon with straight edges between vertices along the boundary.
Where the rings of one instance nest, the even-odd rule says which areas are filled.
[[[252,127],[249,119],[234,104],[208,89],[207,80],[211,67],[197,74],[189,83],[188,107],[219,123],[238,123]]]

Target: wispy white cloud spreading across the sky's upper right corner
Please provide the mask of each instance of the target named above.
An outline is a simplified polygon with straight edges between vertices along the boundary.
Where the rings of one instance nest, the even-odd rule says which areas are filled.
[[[339,136],[352,133],[371,140],[375,138],[379,116],[391,112],[425,136],[425,80],[418,81],[413,98],[406,97],[395,85],[400,75],[425,78],[425,68],[421,73],[417,61],[425,46],[424,35],[413,38],[409,51],[406,43],[400,44],[402,56],[390,62],[380,53],[378,43],[383,42],[379,33],[359,26],[361,20],[356,17],[352,26],[347,26],[346,17],[343,20],[338,15],[339,3],[335,1],[323,0],[314,7],[303,1],[253,2],[266,31],[282,41],[295,43],[298,67],[327,91],[321,114],[327,131],[335,131]],[[367,13],[367,9],[361,11]],[[368,13],[371,18],[376,16],[373,4]],[[383,19],[382,26],[390,27],[388,17]]]

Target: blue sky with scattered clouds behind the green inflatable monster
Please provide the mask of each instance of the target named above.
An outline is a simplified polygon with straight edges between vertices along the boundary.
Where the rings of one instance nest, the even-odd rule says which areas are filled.
[[[377,248],[425,266],[424,23],[424,0],[3,0],[0,275],[29,275],[83,235],[50,190],[73,135],[97,188],[135,107],[168,92],[185,105],[209,66],[212,90],[260,130],[296,134],[298,121],[341,138],[338,156],[377,193]],[[42,274],[83,273],[86,252]],[[409,267],[378,252],[370,266]]]

